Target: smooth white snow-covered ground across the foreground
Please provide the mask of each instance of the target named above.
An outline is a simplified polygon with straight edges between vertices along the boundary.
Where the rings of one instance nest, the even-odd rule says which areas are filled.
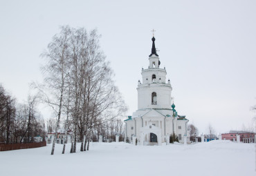
[[[77,145],[80,148],[80,145]],[[255,144],[232,141],[133,146],[93,143],[86,152],[62,155],[62,145],[0,152],[0,175],[256,175]]]

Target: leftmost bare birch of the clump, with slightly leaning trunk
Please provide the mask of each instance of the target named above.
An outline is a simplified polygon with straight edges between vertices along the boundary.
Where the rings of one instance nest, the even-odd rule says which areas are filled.
[[[42,100],[53,108],[57,117],[55,136],[51,155],[54,154],[57,131],[60,129],[60,118],[62,106],[64,104],[64,93],[68,78],[68,57],[70,55],[68,40],[70,39],[70,29],[62,27],[60,35],[55,35],[53,41],[48,44],[48,48],[42,53],[46,59],[46,65],[42,68],[44,73],[44,84],[37,86]]]

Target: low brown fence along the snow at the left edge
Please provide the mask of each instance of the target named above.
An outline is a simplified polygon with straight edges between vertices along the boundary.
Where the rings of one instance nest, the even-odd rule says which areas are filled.
[[[42,146],[46,146],[46,141],[41,141],[38,143],[30,143],[30,144],[0,144],[0,151],[37,148]]]

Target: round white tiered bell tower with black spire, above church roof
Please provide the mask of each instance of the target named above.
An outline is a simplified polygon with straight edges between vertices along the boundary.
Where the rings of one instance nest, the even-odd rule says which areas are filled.
[[[170,80],[166,83],[167,72],[160,68],[160,61],[156,53],[155,37],[152,37],[152,50],[149,55],[149,68],[143,69],[143,81],[138,81],[138,109],[170,109],[172,86]]]

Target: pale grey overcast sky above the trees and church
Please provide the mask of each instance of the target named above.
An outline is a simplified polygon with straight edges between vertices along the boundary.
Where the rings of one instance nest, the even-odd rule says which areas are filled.
[[[154,28],[176,110],[200,133],[209,124],[217,133],[239,130],[256,116],[254,0],[0,2],[0,83],[19,102],[31,81],[42,81],[39,55],[60,26],[97,28],[131,115]]]

